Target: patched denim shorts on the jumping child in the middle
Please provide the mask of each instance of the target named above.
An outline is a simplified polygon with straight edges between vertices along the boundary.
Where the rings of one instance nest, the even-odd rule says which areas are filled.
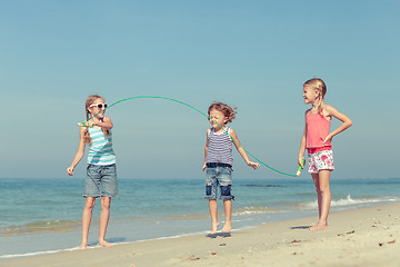
[[[231,200],[234,197],[232,190],[231,166],[208,166],[206,169],[206,199],[217,199],[218,186],[220,187],[220,199]]]

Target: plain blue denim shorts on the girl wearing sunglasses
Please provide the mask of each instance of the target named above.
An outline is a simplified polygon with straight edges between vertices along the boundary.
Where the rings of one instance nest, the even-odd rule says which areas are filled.
[[[116,165],[88,165],[83,197],[117,197]]]

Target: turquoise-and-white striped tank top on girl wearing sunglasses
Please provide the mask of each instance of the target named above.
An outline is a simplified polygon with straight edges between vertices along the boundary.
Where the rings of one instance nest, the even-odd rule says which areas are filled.
[[[106,136],[101,129],[88,128],[91,144],[89,144],[88,164],[90,165],[113,165],[116,154],[112,149],[112,134]]]

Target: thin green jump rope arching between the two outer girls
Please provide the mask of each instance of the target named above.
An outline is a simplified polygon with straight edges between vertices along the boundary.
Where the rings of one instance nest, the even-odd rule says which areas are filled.
[[[79,127],[89,127],[89,125],[87,123],[89,120],[93,119],[96,116],[98,116],[99,113],[106,111],[107,109],[116,106],[117,103],[120,103],[120,102],[124,102],[124,101],[128,101],[128,100],[132,100],[132,99],[139,99],[139,98],[151,98],[151,99],[163,99],[163,100],[168,100],[168,101],[172,101],[172,102],[177,102],[177,103],[180,103],[180,105],[183,105],[201,115],[203,115],[206,118],[208,118],[208,120],[211,120],[212,122],[214,122],[216,125],[218,125],[224,132],[227,132],[227,135],[239,146],[241,147],[248,155],[250,155],[252,158],[254,158],[258,162],[260,162],[261,165],[266,166],[267,168],[278,172],[278,174],[281,174],[281,175],[286,175],[286,176],[291,176],[291,177],[297,177],[297,176],[300,176],[301,174],[301,170],[303,169],[303,167],[299,166],[299,169],[298,171],[296,172],[296,175],[291,175],[291,174],[287,174],[287,172],[283,172],[283,171],[280,171],[278,169],[274,169],[272,168],[271,166],[264,164],[263,161],[261,161],[260,159],[258,159],[254,155],[252,155],[251,152],[249,152],[241,144],[239,144],[237,140],[233,139],[233,137],[231,135],[229,135],[229,132],[223,129],[217,121],[214,121],[213,119],[211,119],[207,113],[202,112],[201,110],[194,108],[193,106],[189,105],[189,103],[186,103],[183,101],[180,101],[180,100],[177,100],[177,99],[173,99],[173,98],[168,98],[168,97],[158,97],[158,96],[138,96],[138,97],[130,97],[130,98],[124,98],[124,99],[121,99],[121,100],[118,100],[117,102],[114,103],[111,103],[109,105],[107,108],[102,109],[100,112],[98,112],[97,115],[94,115],[93,117],[89,118],[87,121],[84,122],[79,122],[78,126]],[[306,159],[303,159],[303,162],[302,162],[302,166],[304,166],[306,164]]]

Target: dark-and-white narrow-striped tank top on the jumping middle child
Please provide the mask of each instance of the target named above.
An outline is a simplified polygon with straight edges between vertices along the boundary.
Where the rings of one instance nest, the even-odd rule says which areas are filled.
[[[226,131],[229,132],[229,127],[226,128]],[[232,139],[226,131],[221,134],[216,134],[213,128],[209,130],[207,164],[233,164]]]

